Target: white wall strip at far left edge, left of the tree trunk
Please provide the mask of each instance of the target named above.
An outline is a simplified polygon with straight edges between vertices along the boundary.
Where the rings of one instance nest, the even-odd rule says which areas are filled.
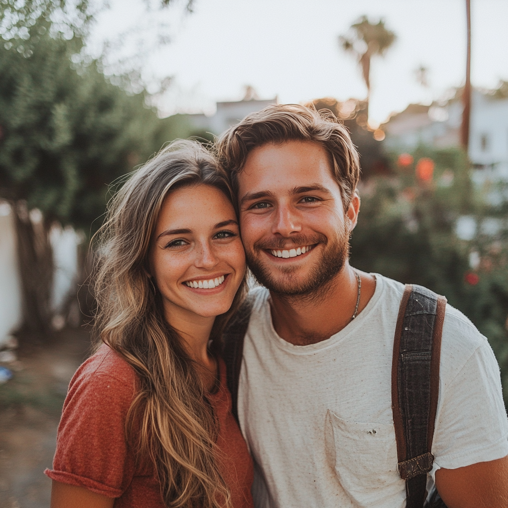
[[[0,345],[21,322],[16,232],[11,207],[0,201]]]

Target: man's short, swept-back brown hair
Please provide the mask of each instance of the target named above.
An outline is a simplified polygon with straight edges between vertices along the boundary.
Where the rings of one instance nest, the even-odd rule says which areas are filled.
[[[311,141],[325,148],[347,210],[360,178],[358,151],[347,129],[330,110],[316,111],[298,104],[272,105],[251,113],[217,140],[217,156],[230,177],[235,195],[238,173],[249,152],[266,143],[287,141]]]

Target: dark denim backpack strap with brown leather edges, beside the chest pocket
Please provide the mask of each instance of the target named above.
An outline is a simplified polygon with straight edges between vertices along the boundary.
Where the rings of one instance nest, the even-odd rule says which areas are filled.
[[[406,284],[392,361],[392,410],[397,470],[406,481],[406,508],[422,508],[434,456],[432,438],[439,394],[439,358],[446,298]]]

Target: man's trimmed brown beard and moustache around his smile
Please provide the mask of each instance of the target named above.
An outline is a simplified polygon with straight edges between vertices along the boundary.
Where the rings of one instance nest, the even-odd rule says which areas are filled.
[[[271,293],[285,297],[319,297],[319,295],[326,293],[328,284],[344,266],[349,256],[349,237],[350,232],[347,225],[344,224],[343,234],[337,235],[331,241],[322,234],[295,235],[291,237],[291,244],[288,243],[288,239],[280,239],[278,244],[276,240],[255,243],[252,250],[245,252],[245,256],[253,275]],[[294,273],[299,270],[299,267],[290,265],[274,269],[278,273],[277,276],[273,276],[270,268],[261,261],[260,254],[265,249],[289,250],[293,246],[315,245],[316,243],[323,246],[322,253],[318,259],[313,261],[310,273],[304,280],[296,280],[294,277]]]

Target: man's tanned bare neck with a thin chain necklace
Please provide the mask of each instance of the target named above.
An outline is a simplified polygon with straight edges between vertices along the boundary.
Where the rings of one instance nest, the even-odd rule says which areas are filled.
[[[358,312],[372,298],[375,278],[356,270],[361,277]],[[342,330],[355,314],[358,280],[348,262],[316,295],[287,297],[272,293],[270,307],[273,327],[279,337],[295,345],[315,344]]]

